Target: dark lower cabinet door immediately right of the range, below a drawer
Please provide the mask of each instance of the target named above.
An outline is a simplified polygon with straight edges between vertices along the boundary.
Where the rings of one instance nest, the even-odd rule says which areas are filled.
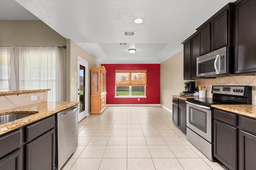
[[[237,128],[214,120],[214,156],[229,170],[237,166]]]

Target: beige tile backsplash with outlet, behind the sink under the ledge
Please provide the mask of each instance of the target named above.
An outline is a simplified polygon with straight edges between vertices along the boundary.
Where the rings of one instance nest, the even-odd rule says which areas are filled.
[[[37,96],[37,100],[30,101],[31,96]],[[19,94],[1,94],[0,95],[0,110],[10,109],[29,104],[47,102],[46,92],[27,92]]]

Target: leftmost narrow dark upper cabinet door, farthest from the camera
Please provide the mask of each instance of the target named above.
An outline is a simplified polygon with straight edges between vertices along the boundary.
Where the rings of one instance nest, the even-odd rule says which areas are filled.
[[[190,39],[184,43],[184,80],[191,78],[191,41]]]

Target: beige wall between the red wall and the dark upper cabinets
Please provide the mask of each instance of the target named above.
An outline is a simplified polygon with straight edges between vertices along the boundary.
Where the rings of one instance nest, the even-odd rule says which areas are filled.
[[[183,50],[161,63],[160,103],[172,110],[172,96],[184,91]]]

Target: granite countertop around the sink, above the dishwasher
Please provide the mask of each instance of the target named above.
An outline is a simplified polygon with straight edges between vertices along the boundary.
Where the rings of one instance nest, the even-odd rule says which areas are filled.
[[[6,132],[12,131],[14,129],[17,129],[19,127],[22,127],[24,125],[27,125],[29,123],[32,123],[34,121],[37,121],[39,119],[42,119],[44,117],[53,115],[54,113],[57,113],[69,107],[75,106],[77,104],[79,104],[79,102],[41,102],[37,104],[31,104],[31,105],[26,105],[22,107],[15,107],[12,109],[1,110],[0,115],[10,114],[8,112],[16,113],[18,111],[22,111],[24,113],[31,113],[32,111],[38,111],[38,113],[0,125],[0,135]]]

